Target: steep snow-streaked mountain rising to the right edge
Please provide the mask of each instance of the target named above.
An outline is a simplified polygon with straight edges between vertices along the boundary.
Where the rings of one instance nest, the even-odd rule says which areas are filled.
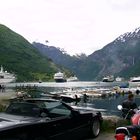
[[[100,65],[97,79],[105,75],[129,78],[140,75],[140,28],[125,33],[88,56]]]

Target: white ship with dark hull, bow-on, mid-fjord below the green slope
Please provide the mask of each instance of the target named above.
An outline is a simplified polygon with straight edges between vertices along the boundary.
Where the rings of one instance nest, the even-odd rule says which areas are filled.
[[[55,73],[54,74],[54,80],[56,82],[66,82],[67,81],[66,78],[65,78],[64,73],[62,73],[62,72]]]

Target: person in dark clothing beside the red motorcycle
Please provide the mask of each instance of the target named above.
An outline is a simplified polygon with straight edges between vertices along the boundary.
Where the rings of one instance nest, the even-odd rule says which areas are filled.
[[[123,101],[122,107],[123,117],[130,119],[135,113],[134,110],[137,109],[137,104],[134,102],[134,95],[132,93],[129,93],[128,99]]]

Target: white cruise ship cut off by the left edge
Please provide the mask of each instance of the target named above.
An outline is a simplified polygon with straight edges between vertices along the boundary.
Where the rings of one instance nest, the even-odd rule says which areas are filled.
[[[0,84],[4,83],[10,83],[16,80],[16,77],[14,74],[8,73],[7,71],[3,70],[3,67],[1,66],[0,69]]]

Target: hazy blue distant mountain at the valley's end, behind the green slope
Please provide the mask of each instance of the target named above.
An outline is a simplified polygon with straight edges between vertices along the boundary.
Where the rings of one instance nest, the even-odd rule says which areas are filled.
[[[44,56],[52,59],[56,64],[70,69],[72,74],[76,75],[79,80],[93,80],[100,70],[100,66],[93,60],[88,60],[88,57],[85,54],[70,56],[60,48],[37,42],[33,42],[33,46],[37,48]]]

